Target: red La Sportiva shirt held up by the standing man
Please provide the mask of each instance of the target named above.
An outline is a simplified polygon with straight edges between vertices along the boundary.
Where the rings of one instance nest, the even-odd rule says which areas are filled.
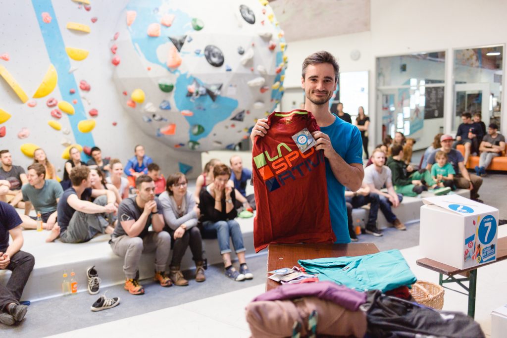
[[[299,109],[273,112],[268,125],[252,149],[256,252],[270,243],[333,243],[324,154],[310,134],[319,130],[315,118]]]

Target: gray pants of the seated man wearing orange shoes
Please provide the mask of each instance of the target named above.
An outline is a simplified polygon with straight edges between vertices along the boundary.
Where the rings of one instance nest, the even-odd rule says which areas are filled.
[[[134,279],[143,252],[155,251],[155,270],[165,271],[171,250],[171,236],[166,231],[159,233],[150,231],[144,238],[123,235],[111,240],[111,249],[116,255],[125,258],[123,264],[125,278]]]

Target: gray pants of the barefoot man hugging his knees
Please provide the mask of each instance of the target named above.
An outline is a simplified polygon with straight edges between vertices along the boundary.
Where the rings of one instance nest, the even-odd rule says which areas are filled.
[[[105,206],[107,204],[107,197],[105,195],[99,196],[93,203]],[[60,234],[60,241],[63,243],[88,242],[97,233],[104,233],[105,228],[109,224],[106,217],[112,219],[111,214],[87,214],[76,211],[74,215],[72,215],[72,218],[70,218],[67,229]]]

